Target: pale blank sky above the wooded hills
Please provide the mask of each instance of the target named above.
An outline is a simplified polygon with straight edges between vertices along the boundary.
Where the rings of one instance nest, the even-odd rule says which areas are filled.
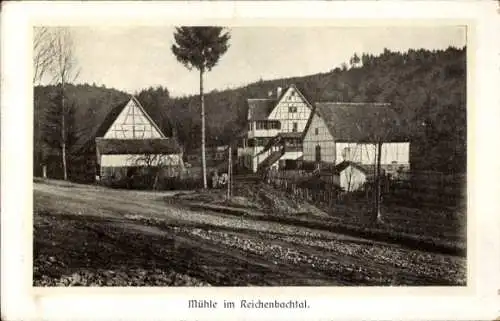
[[[199,74],[171,52],[172,27],[72,27],[81,68],[76,83],[104,84],[128,93],[167,87],[172,96],[199,92]],[[464,27],[233,27],[230,48],[205,76],[223,90],[258,81],[327,72],[354,52],[384,48],[446,49],[466,44]]]

